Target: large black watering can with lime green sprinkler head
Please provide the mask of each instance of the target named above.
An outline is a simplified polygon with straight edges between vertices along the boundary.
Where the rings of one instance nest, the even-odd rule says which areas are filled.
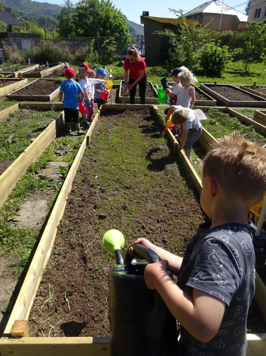
[[[105,239],[106,234],[116,236],[113,242]],[[150,248],[133,244],[123,258],[123,234],[115,229],[106,234],[103,243],[115,252],[117,263],[108,273],[110,356],[178,355],[176,320],[159,293],[147,288],[143,275],[147,263],[135,262],[128,251],[133,247],[149,263],[159,262],[160,257]]]

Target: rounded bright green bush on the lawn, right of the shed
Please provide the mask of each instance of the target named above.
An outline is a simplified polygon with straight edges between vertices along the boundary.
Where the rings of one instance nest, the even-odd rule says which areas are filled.
[[[205,43],[199,54],[199,66],[204,73],[220,74],[230,59],[228,46],[219,47],[219,43]]]

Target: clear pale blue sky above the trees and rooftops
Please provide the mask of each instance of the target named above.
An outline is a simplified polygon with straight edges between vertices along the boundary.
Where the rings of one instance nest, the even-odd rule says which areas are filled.
[[[35,0],[36,1],[36,0]],[[49,2],[50,4],[62,5],[63,0],[37,0],[39,2]],[[74,3],[76,0],[72,0]],[[207,0],[206,0],[207,1]],[[222,0],[220,0],[222,2]],[[168,10],[168,7],[175,10],[182,9],[185,12],[195,9],[195,7],[204,4],[204,0],[191,0],[184,4],[183,1],[169,1],[166,0],[113,0],[113,5],[120,9],[127,19],[140,23],[140,15],[142,11],[149,11],[149,16],[155,17],[176,17],[173,12]],[[232,6],[235,10],[245,13],[246,0],[224,0],[224,4]],[[240,6],[238,6],[240,5]]]

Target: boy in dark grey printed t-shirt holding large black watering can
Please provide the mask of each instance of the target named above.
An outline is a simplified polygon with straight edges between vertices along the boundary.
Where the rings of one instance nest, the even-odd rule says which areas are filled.
[[[180,355],[244,356],[255,288],[254,227],[247,216],[266,191],[264,148],[234,132],[209,150],[202,173],[200,202],[211,221],[199,226],[183,258],[146,239],[135,244],[161,258],[145,267],[144,278],[181,325]],[[138,257],[133,248],[129,253]],[[178,277],[177,284],[167,270]]]

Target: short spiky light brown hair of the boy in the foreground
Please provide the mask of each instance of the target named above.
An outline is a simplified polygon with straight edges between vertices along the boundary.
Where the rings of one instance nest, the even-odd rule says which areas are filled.
[[[203,176],[223,191],[255,204],[266,191],[266,150],[233,132],[218,140],[203,160]]]

